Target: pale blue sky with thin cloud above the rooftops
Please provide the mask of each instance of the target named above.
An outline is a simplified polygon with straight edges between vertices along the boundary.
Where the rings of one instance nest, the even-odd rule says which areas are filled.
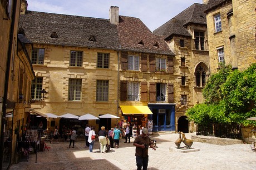
[[[109,18],[110,6],[121,16],[140,18],[154,31],[194,3],[203,0],[27,0],[29,11]]]

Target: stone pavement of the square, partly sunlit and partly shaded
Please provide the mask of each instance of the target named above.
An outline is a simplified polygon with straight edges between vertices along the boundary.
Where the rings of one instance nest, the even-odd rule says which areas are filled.
[[[191,139],[194,133],[186,134]],[[198,152],[181,153],[176,150],[175,141],[179,134],[153,134],[156,151],[149,149],[149,170],[155,169],[256,169],[256,152],[250,144],[215,144],[194,142],[192,148]],[[95,143],[93,153],[84,148],[84,139],[78,139],[75,148],[67,148],[67,142],[52,143],[50,151],[38,152],[29,156],[28,162],[19,162],[11,166],[18,169],[136,169],[135,147],[131,143],[120,141],[120,148],[111,148],[107,153],[100,153],[99,142]],[[181,144],[184,146],[184,144]],[[171,149],[170,149],[171,148]]]

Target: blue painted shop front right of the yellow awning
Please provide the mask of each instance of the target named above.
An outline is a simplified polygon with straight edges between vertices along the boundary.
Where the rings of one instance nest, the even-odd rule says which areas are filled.
[[[153,114],[148,119],[153,120],[153,132],[175,131],[175,104],[149,103]]]

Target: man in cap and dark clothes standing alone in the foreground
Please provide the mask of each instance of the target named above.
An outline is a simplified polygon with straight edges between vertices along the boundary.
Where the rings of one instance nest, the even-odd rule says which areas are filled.
[[[142,134],[137,136],[134,140],[134,146],[136,146],[135,157],[137,170],[140,170],[141,167],[143,167],[143,170],[147,169],[147,164],[149,163],[149,146],[156,150],[150,137],[147,136],[147,133],[149,133],[147,128],[143,128]]]

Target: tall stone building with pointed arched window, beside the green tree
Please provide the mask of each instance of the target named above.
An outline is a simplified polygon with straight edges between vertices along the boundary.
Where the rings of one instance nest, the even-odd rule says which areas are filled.
[[[205,4],[194,3],[153,32],[163,36],[175,53],[176,131],[195,131],[185,111],[204,101],[202,89],[210,73],[205,9]]]

